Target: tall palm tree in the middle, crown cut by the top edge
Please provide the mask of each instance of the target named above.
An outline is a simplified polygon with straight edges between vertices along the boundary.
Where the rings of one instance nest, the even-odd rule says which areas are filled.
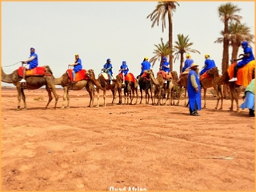
[[[176,5],[179,6],[178,2],[158,2],[158,5],[153,10],[151,14],[149,14],[146,18],[150,18],[153,22],[151,27],[157,23],[159,26],[159,20],[162,21],[162,32],[166,28],[166,15],[168,16],[168,25],[169,25],[169,47],[172,49],[173,47],[173,21],[172,14],[173,11],[176,10]],[[170,62],[170,70],[173,70],[173,58],[170,54],[169,57]]]

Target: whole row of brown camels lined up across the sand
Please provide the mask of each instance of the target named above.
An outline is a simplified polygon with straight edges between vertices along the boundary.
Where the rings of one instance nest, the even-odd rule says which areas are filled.
[[[46,86],[46,91],[48,93],[48,102],[46,104],[46,108],[49,106],[51,100],[53,99],[52,93],[54,94],[55,103],[54,109],[56,109],[57,102],[58,102],[58,94],[56,94],[55,85],[60,85],[63,87],[64,94],[63,94],[63,101],[62,101],[62,109],[70,108],[70,97],[69,97],[69,90],[82,90],[86,88],[90,95],[90,103],[89,107],[94,106],[94,90],[96,90],[98,94],[98,101],[97,107],[99,107],[99,90],[103,91],[103,106],[106,106],[106,90],[111,90],[113,100],[112,104],[115,105],[116,94],[118,92],[119,101],[118,104],[122,104],[122,88],[124,88],[124,95],[125,95],[125,104],[137,104],[138,101],[138,86],[141,93],[141,100],[140,104],[142,104],[142,92],[145,91],[146,94],[146,104],[151,102],[153,105],[166,105],[169,101],[169,105],[174,105],[174,100],[172,99],[172,95],[174,92],[174,85],[179,86],[179,93],[181,93],[182,87],[185,88],[185,103],[184,106],[187,106],[186,103],[186,86],[187,86],[187,78],[188,74],[182,74],[180,77],[180,81],[178,81],[178,74],[176,71],[172,71],[172,77],[170,81],[166,82],[163,78],[161,73],[157,74],[157,77],[154,78],[153,70],[146,70],[146,76],[139,78],[138,82],[128,82],[125,81],[125,84],[122,84],[122,78],[118,74],[116,76],[116,80],[110,84],[108,80],[104,78],[103,74],[100,74],[98,78],[95,77],[94,70],[87,70],[86,75],[88,79],[81,80],[75,82],[74,84],[70,80],[70,77],[67,73],[62,74],[60,78],[54,78],[52,71],[50,70],[49,66],[45,67],[45,74],[42,76],[30,76],[26,77],[26,85],[19,83],[22,77],[18,76],[18,70],[14,70],[11,74],[6,74],[2,70],[2,82],[12,83],[16,86],[18,92],[18,107],[17,110],[21,110],[21,98],[24,103],[23,110],[26,110],[26,97],[24,94],[24,89],[28,90],[35,90],[42,86]],[[202,88],[204,89],[204,107],[206,107],[206,90],[207,88],[214,87],[214,90],[217,94],[217,105],[215,109],[218,109],[219,100],[221,100],[221,106],[219,110],[222,110],[222,103],[223,103],[223,96],[221,85],[227,84],[230,88],[230,98],[231,98],[231,106],[230,110],[233,110],[233,103],[234,100],[237,104],[237,110],[239,109],[238,106],[238,87],[234,84],[234,82],[229,82],[229,75],[227,71],[220,76],[218,74],[218,68],[214,67],[211,70],[207,71],[207,74],[211,77],[204,78],[201,81]],[[96,86],[96,89],[94,88]],[[153,90],[154,88],[154,90]],[[154,100],[153,100],[153,92],[154,92]],[[167,94],[167,96],[166,96]],[[136,96],[135,96],[136,95]],[[178,102],[176,105],[179,104],[179,98],[181,94],[178,94]],[[136,101],[133,103],[134,98],[136,97]],[[130,102],[129,102],[130,99]],[[158,99],[156,102],[155,99]],[[127,100],[127,102],[126,102]],[[165,102],[163,102],[165,100]],[[65,107],[65,102],[67,102]]]

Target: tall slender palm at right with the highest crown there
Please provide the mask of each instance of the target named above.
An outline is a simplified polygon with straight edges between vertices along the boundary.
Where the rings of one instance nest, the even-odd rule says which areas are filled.
[[[218,16],[221,18],[222,22],[224,22],[224,30],[223,34],[228,34],[228,24],[229,22],[236,21],[240,22],[242,17],[238,14],[241,9],[234,4],[227,2],[226,4],[222,4],[218,7]],[[222,73],[224,73],[229,66],[229,40],[227,38],[223,39],[223,54],[222,54]],[[227,96],[227,86],[223,86],[223,94],[224,98]]]

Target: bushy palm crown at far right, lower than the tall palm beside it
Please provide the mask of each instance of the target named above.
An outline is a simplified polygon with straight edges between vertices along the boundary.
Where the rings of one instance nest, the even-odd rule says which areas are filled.
[[[222,38],[218,38],[215,42],[222,43],[223,37],[227,38],[229,40],[229,45],[232,46],[232,58],[238,58],[238,50],[241,46],[241,42],[247,41],[249,44],[254,43],[254,34],[250,34],[250,27],[246,26],[246,23],[230,23],[229,25],[229,33],[224,34],[224,32],[221,32]]]

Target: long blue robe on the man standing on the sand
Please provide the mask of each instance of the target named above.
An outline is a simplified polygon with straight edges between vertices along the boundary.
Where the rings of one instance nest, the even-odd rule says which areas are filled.
[[[195,93],[194,87],[192,86],[192,83],[190,81],[191,75],[194,74],[195,80],[198,84],[198,93]],[[190,70],[190,73],[187,78],[187,93],[189,97],[189,103],[190,103],[190,110],[194,111],[195,103],[198,105],[198,110],[201,110],[201,88],[200,88],[200,82],[198,74],[194,70]]]

